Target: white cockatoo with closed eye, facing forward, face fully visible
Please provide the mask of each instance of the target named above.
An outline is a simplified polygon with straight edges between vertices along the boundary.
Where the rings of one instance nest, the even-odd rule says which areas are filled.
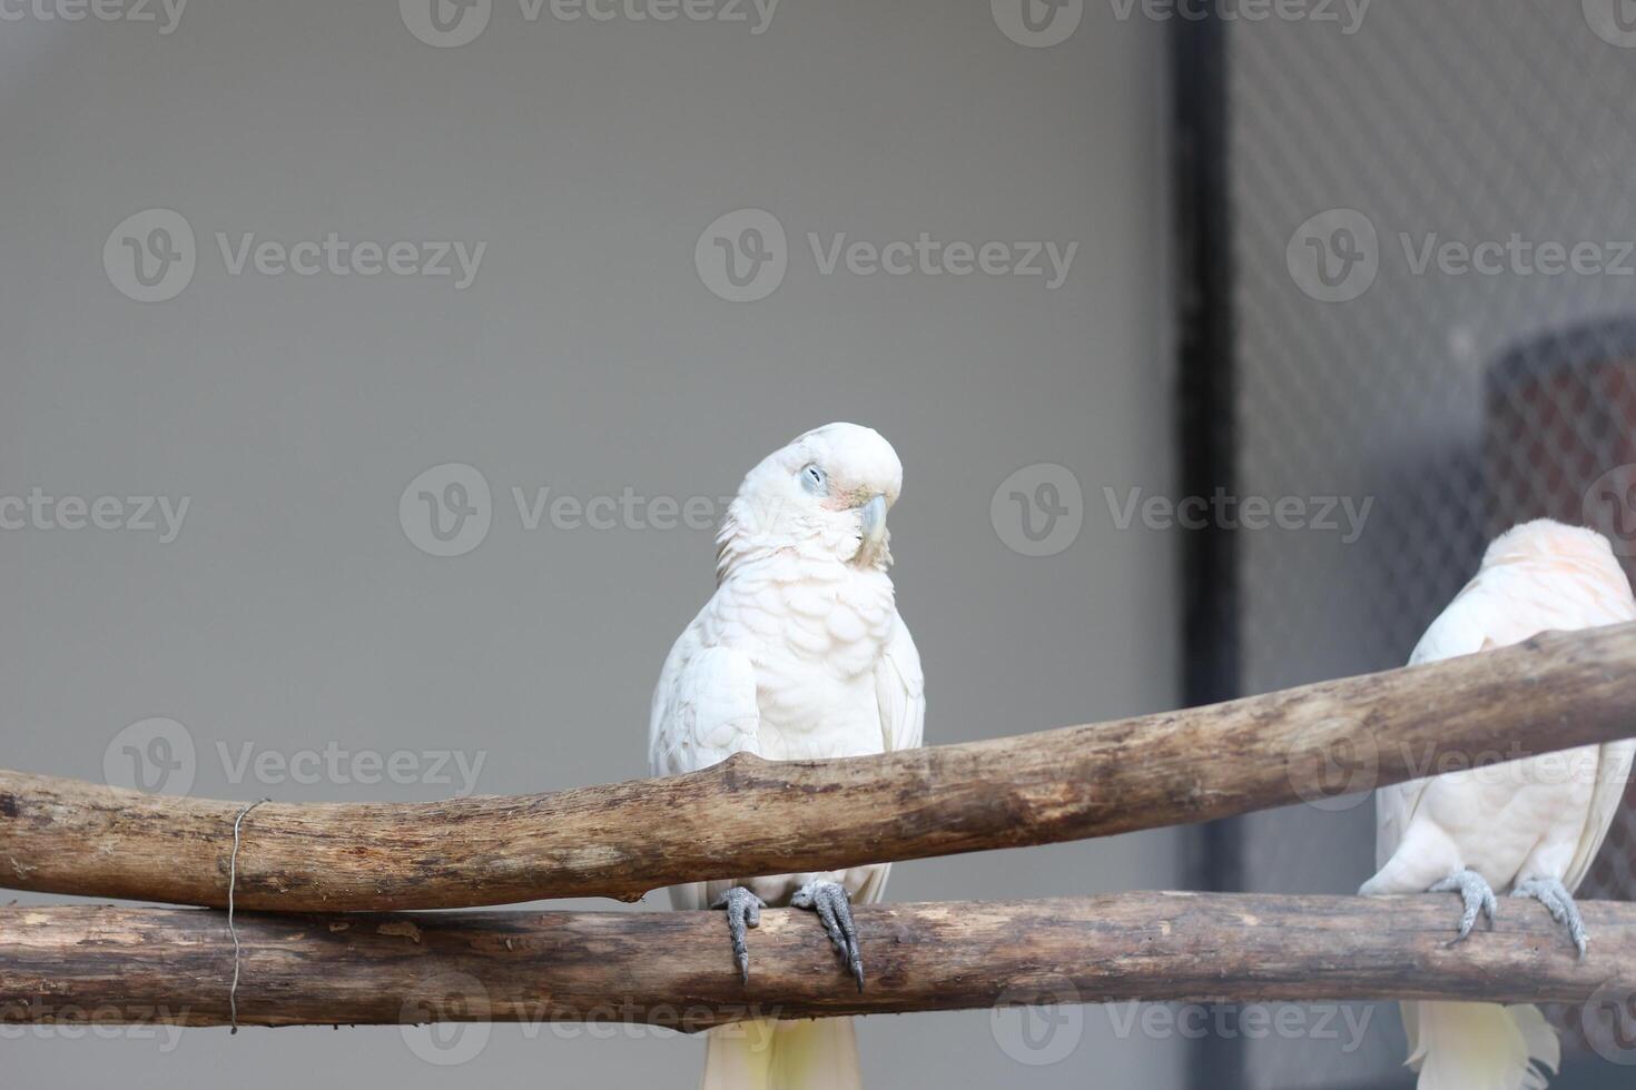
[[[887,575],[887,511],[901,484],[892,444],[852,423],[808,431],[749,471],[717,536],[715,595],[671,647],[653,693],[653,775],[695,771],[738,752],[810,760],[919,745],[919,654]],[[676,886],[671,900],[677,909],[726,909],[746,981],[744,928],[757,925],[761,909],[810,909],[862,989],[847,900],[879,900],[888,868],[744,874]],[[852,1021],[712,1031],[702,1085],[859,1087]]]

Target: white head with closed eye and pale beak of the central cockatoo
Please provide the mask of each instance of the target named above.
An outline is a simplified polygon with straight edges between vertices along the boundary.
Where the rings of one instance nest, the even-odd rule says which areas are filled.
[[[903,462],[879,431],[815,428],[744,476],[717,536],[717,574],[780,549],[885,569],[887,511],[901,487]]]

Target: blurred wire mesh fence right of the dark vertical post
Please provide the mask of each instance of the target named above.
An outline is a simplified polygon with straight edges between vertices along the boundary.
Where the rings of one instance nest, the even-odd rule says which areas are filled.
[[[1337,511],[1240,534],[1247,691],[1402,663],[1526,518],[1597,526],[1636,575],[1636,3],[1319,7],[1227,38],[1237,487]],[[1636,892],[1629,802],[1584,896]],[[1242,838],[1247,887],[1350,892],[1373,804]],[[1348,1057],[1245,1041],[1250,1085],[1402,1080],[1373,1016]]]

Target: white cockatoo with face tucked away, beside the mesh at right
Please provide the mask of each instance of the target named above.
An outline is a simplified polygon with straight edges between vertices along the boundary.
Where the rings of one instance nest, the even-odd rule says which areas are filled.
[[[1633,619],[1629,580],[1607,539],[1539,520],[1489,546],[1476,579],[1432,623],[1410,663],[1505,647],[1549,629]],[[1495,891],[1533,897],[1584,958],[1585,927],[1572,892],[1618,811],[1633,753],[1636,740],[1585,745],[1382,788],[1379,871],[1360,892],[1458,892],[1459,938],[1479,912],[1494,920]],[[1556,1031],[1535,1007],[1402,1007],[1420,1090],[1539,1090],[1548,1082],[1541,1067],[1554,1072],[1561,1064]]]

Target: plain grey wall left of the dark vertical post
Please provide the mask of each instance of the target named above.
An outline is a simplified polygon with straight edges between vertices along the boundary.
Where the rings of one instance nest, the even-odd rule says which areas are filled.
[[[101,780],[106,755],[128,776],[126,744],[164,753],[116,735],[167,717],[201,796],[458,786],[239,776],[245,745],[273,760],[455,750],[484,762],[481,793],[641,775],[653,678],[712,588],[710,533],[528,531],[512,487],[723,495],[834,418],[880,428],[906,466],[893,546],[929,740],[1175,704],[1173,541],[1119,531],[1103,500],[1171,472],[1160,25],[1088,5],[1067,42],[1032,49],[985,3],[785,0],[756,36],[528,23],[496,0],[476,41],[430,47],[391,3],[195,5],[170,34],[0,23],[0,497],[190,500],[170,543],[64,528],[74,505],[52,529],[0,531],[0,763]],[[185,217],[195,271],[137,302],[115,283],[141,294],[124,234],[113,278],[101,253],[152,208]],[[777,216],[790,255],[775,293],[733,304],[694,248],[741,208]],[[826,276],[808,230],[1080,248],[1057,289]],[[488,245],[456,289],[231,275],[218,232],[229,247],[245,232]],[[494,497],[486,539],[458,557],[420,551],[399,520],[406,485],[445,462],[478,467]],[[1050,557],[991,523],[996,485],[1036,462],[1072,469],[1085,497],[1083,531]],[[1171,887],[1178,845],[910,863],[890,896]],[[1018,1025],[983,1012],[882,1018],[862,1028],[865,1072],[1176,1085],[1184,1043],[1117,1039],[1122,1016],[1086,1010],[1052,1064],[1011,1059]],[[700,1056],[667,1034],[496,1026],[452,1075],[396,1028],[41,1031],[7,1041],[5,1070],[16,1087],[128,1090],[623,1087],[689,1085]]]

